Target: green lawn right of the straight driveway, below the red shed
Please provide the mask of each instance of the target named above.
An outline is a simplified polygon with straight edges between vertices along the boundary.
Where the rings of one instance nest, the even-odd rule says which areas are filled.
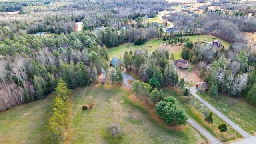
[[[202,98],[234,123],[239,124],[239,127],[249,134],[256,132],[256,108],[248,104],[244,98],[233,98],[219,94],[218,97],[212,99],[208,92],[206,92]],[[237,100],[237,103],[232,105],[229,100]]]

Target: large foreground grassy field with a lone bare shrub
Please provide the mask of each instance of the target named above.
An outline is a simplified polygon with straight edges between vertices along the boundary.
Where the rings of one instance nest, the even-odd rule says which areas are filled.
[[[78,106],[83,90],[84,88],[73,90],[73,110]],[[71,127],[72,134],[67,143],[205,143],[203,138],[190,126],[163,126],[153,120],[147,110],[128,99],[129,91],[118,85],[91,85],[82,100],[82,105],[93,103],[94,107],[84,111],[82,105],[79,106]],[[121,138],[113,139],[105,133],[105,126],[110,122],[121,125],[124,130]],[[197,138],[198,136],[199,138]]]

